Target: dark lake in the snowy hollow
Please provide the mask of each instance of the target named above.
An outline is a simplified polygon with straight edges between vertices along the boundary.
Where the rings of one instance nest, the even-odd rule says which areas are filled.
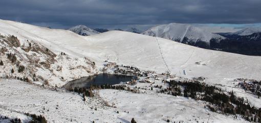
[[[74,87],[90,87],[91,85],[115,85],[121,82],[128,82],[133,79],[133,76],[116,75],[100,73],[99,75],[83,77],[77,80],[68,82],[63,88],[70,89]]]

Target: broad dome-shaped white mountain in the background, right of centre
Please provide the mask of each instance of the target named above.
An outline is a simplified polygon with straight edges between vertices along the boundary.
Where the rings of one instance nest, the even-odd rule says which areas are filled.
[[[161,37],[177,42],[183,42],[187,38],[188,41],[203,41],[209,43],[210,39],[224,39],[224,37],[209,33],[203,29],[193,27],[189,24],[169,23],[161,26],[150,28],[142,33],[144,35]]]

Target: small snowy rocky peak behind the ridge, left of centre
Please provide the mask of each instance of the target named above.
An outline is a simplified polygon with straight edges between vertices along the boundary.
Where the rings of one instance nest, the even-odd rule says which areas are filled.
[[[83,36],[99,34],[99,32],[97,32],[91,28],[88,28],[84,25],[78,25],[78,26],[70,28],[69,30],[76,34],[83,35]]]

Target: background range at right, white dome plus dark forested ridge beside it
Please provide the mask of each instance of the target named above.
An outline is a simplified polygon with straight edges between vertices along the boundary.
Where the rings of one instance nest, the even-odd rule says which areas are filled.
[[[260,28],[246,28],[235,33],[213,34],[189,24],[170,23],[153,27],[142,34],[215,51],[261,56],[260,32]]]

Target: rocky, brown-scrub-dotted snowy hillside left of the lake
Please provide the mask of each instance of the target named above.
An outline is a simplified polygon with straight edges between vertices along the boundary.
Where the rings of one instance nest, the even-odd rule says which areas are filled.
[[[29,82],[41,84],[46,81],[52,86],[62,86],[70,80],[98,72],[93,61],[88,58],[61,54],[61,51],[60,53],[53,53],[47,47],[41,45],[45,40],[35,35],[31,35],[29,38],[26,36],[12,38],[9,34],[17,35],[12,34],[13,27],[1,24],[5,33],[0,33],[0,60],[4,64],[0,65],[0,78],[28,78]],[[22,31],[22,34],[25,35],[28,33],[23,29],[17,31]],[[52,44],[49,46],[52,46]],[[15,54],[16,60],[12,63],[7,54]],[[23,66],[25,67],[24,70],[19,71]],[[13,73],[11,69],[13,69]]]

